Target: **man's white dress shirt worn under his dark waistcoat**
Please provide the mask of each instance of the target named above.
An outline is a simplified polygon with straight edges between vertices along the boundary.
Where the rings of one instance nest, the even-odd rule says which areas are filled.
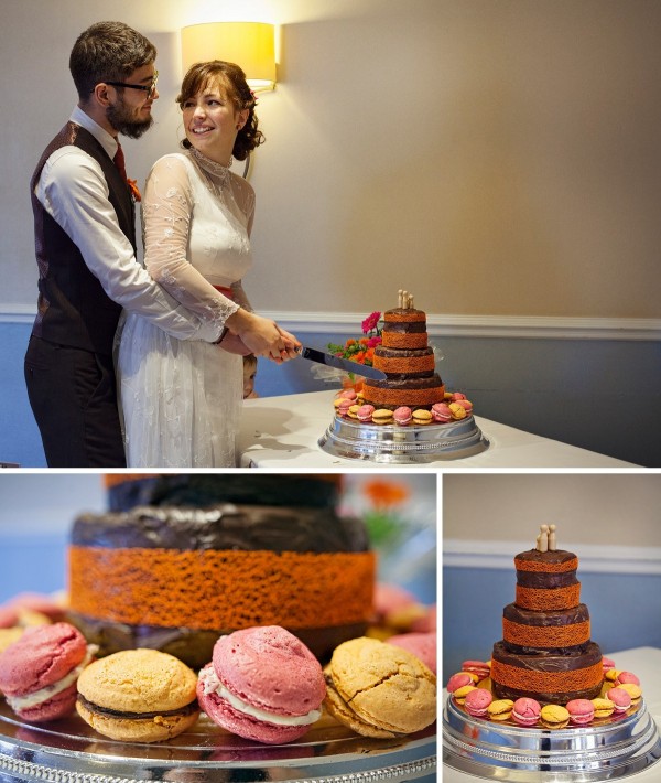
[[[79,107],[71,121],[88,130],[110,159],[117,141]],[[193,315],[140,266],[131,243],[119,227],[99,163],[78,147],[55,150],[35,186],[46,212],[66,232],[110,299],[178,340],[216,341],[220,328]]]

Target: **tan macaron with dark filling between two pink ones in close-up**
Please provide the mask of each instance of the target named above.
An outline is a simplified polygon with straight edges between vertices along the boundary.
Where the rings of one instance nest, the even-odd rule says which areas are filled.
[[[76,710],[93,729],[126,742],[161,742],[199,717],[195,673],[158,650],[124,650],[78,678]]]

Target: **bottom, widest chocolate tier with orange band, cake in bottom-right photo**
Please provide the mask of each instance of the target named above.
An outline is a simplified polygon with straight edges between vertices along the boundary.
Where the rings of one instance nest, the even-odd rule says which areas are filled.
[[[492,691],[500,699],[527,696],[542,704],[593,699],[599,695],[604,679],[602,657],[595,642],[582,652],[562,655],[517,654],[497,642],[491,655]]]

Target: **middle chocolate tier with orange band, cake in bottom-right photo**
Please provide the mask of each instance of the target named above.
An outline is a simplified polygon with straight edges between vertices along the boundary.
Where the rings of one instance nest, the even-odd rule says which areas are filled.
[[[566,654],[589,642],[589,612],[584,603],[560,612],[535,612],[508,604],[502,612],[502,642],[511,653]]]

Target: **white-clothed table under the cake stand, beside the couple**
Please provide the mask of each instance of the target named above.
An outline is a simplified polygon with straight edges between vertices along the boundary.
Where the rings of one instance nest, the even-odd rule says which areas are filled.
[[[317,441],[333,421],[335,392],[245,400],[237,442],[241,468],[369,468],[376,463],[328,454]],[[395,468],[636,468],[595,451],[475,417],[490,446],[460,460]]]

